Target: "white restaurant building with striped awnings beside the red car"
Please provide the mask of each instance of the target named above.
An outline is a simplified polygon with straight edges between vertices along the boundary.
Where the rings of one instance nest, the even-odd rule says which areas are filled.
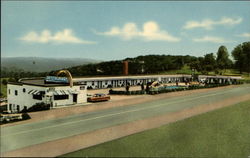
[[[45,103],[51,108],[87,102],[85,85],[46,83],[44,79],[21,79],[7,84],[9,112],[20,112],[36,103]]]

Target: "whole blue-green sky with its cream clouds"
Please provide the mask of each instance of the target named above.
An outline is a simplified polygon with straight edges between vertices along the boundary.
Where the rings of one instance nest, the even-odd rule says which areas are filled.
[[[1,56],[230,53],[250,41],[249,15],[250,1],[1,1]]]

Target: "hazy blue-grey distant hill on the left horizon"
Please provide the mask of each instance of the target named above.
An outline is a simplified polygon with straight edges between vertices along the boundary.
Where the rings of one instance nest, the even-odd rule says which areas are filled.
[[[1,68],[23,69],[31,72],[48,72],[72,66],[99,63],[85,58],[2,57]]]

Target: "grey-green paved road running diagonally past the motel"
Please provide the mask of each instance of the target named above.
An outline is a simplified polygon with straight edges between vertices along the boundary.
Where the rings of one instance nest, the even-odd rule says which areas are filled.
[[[250,85],[1,128],[1,152],[250,94]],[[101,106],[101,105],[100,105]]]

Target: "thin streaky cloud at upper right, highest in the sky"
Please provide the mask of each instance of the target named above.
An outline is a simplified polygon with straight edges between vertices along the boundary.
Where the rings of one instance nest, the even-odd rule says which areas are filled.
[[[188,21],[184,25],[184,29],[194,29],[194,28],[204,28],[206,30],[213,29],[216,25],[236,25],[242,22],[242,18],[229,18],[229,17],[223,17],[218,21],[211,20],[211,19],[205,19],[202,21]]]

